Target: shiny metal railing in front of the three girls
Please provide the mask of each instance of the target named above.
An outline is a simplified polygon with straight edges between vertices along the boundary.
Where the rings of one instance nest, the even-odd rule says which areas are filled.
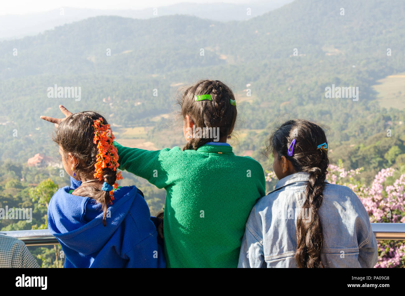
[[[405,240],[405,223],[371,223],[376,239]],[[17,230],[0,232],[17,239],[26,245],[57,245],[58,240],[48,229]]]

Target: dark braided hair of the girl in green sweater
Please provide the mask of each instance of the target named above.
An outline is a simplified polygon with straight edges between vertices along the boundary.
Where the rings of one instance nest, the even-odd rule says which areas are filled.
[[[211,95],[212,101],[195,101],[196,95]],[[221,81],[200,80],[185,89],[178,104],[183,119],[186,115],[190,116],[194,125],[200,128],[219,127],[219,137],[222,138],[228,136],[235,126],[237,110],[236,106],[230,103],[231,99],[235,99],[232,90]],[[197,150],[208,142],[213,142],[213,138],[192,138],[183,150]]]

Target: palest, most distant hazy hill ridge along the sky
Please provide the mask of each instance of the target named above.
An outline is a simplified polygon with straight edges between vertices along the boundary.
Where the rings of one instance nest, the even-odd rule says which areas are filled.
[[[0,40],[17,39],[36,35],[56,26],[81,21],[100,15],[149,19],[165,15],[192,15],[214,21],[240,21],[271,11],[293,0],[272,0],[269,2],[231,3],[179,3],[162,7],[150,7],[140,10],[102,10],[87,8],[60,7],[51,11],[29,15],[0,15]],[[250,13],[247,15],[247,8]]]

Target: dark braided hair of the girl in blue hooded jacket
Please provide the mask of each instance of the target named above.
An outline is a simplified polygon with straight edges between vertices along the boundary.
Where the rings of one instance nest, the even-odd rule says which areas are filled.
[[[93,120],[100,117],[103,124],[107,125],[107,120],[96,112],[74,113],[60,123],[53,138],[53,141],[58,143],[64,150],[65,158],[69,152],[77,158],[78,163],[75,167],[75,173],[89,179],[94,178],[94,165],[97,162],[96,155],[98,154],[97,144],[93,143]],[[117,172],[107,167],[103,169],[103,174],[104,182],[112,186],[117,179]],[[79,186],[72,194],[87,196],[100,203],[103,211],[102,223],[104,226],[107,225],[107,207],[111,202],[108,191],[101,190],[101,186],[97,182],[90,182],[88,186]]]

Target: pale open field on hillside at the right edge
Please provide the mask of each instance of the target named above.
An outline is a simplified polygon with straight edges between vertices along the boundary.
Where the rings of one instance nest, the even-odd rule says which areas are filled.
[[[389,75],[377,82],[373,88],[378,92],[377,101],[382,108],[405,108],[405,73]]]

